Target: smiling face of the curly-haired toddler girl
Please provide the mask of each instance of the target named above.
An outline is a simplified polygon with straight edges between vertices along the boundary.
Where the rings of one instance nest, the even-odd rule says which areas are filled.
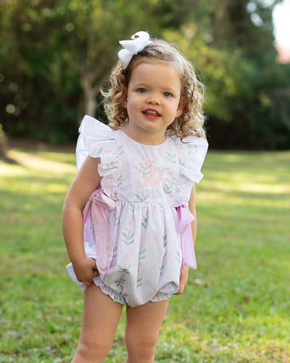
[[[167,127],[183,112],[181,79],[174,66],[165,61],[146,61],[133,68],[123,106],[127,108],[129,127],[152,131],[164,138]]]

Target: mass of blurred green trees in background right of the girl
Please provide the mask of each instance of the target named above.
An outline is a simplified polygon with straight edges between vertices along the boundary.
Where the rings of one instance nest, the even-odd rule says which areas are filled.
[[[277,2],[196,1],[181,31],[164,33],[201,70],[212,147],[289,147],[290,68],[275,63],[273,46]]]

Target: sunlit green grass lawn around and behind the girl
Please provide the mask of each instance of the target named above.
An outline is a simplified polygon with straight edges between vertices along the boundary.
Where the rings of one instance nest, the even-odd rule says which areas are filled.
[[[0,161],[0,362],[70,362],[82,292],[66,275],[70,152]],[[198,269],[171,298],[155,362],[290,362],[290,152],[209,152],[197,186]],[[106,363],[125,359],[124,316]]]

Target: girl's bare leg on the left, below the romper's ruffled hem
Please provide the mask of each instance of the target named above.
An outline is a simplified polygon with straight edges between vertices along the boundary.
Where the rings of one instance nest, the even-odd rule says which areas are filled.
[[[114,341],[122,307],[95,284],[86,288],[82,333],[72,363],[102,363],[105,360]]]

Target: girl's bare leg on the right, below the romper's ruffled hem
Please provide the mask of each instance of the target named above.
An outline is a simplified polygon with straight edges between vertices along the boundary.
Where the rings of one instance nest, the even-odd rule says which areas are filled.
[[[153,363],[158,333],[167,311],[168,300],[127,306],[125,343],[128,357],[125,363]]]

